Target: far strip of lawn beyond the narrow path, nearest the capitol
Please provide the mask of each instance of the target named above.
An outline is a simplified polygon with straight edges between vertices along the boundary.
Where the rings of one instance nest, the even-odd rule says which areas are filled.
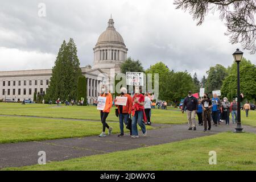
[[[0,103],[0,114],[100,120],[100,111],[95,106]],[[112,107],[108,121],[118,121],[115,116],[115,107]],[[152,123],[180,124],[186,123],[187,117],[174,108],[168,110],[152,109],[151,121]]]

